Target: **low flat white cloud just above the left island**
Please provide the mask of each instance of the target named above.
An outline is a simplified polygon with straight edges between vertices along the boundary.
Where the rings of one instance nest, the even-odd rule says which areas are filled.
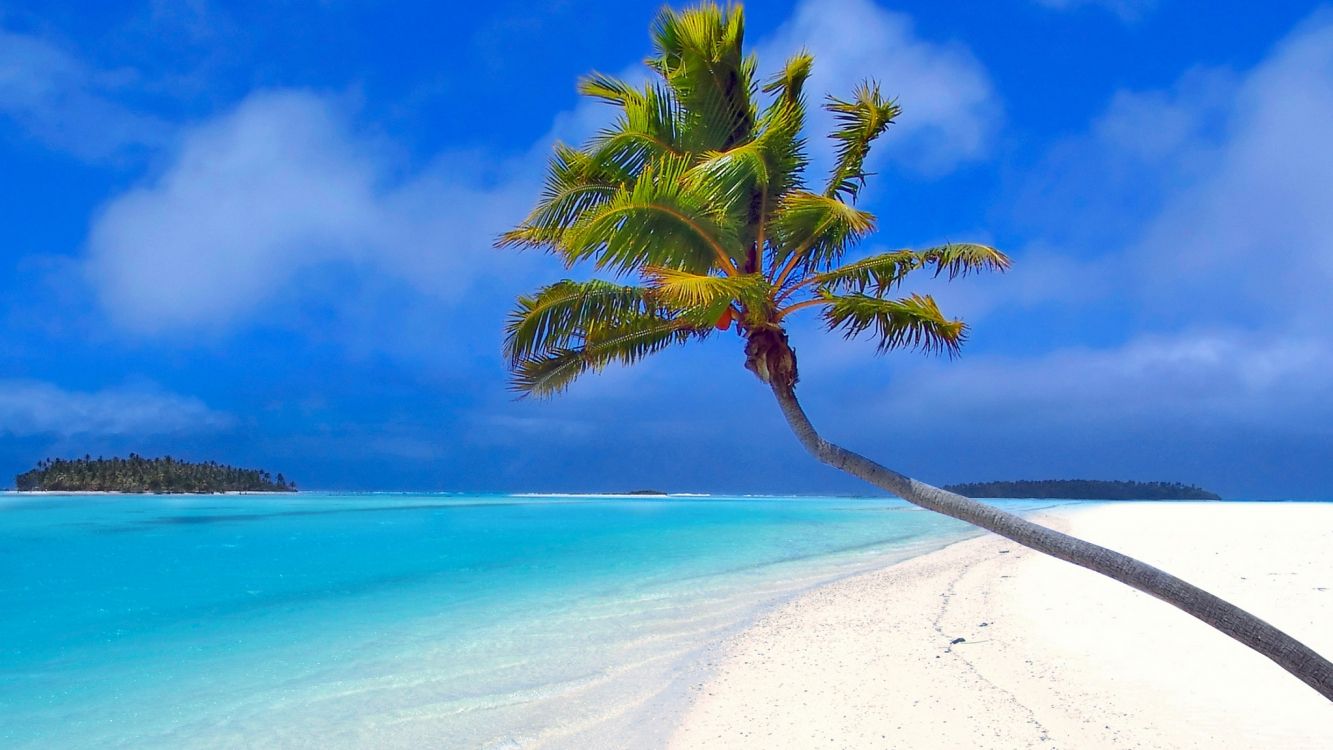
[[[155,389],[77,392],[29,380],[0,381],[0,434],[12,437],[183,434],[232,422],[197,398]]]

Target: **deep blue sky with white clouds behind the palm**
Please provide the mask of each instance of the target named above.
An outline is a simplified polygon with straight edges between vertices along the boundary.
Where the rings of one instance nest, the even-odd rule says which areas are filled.
[[[491,240],[656,9],[0,0],[0,477],[136,450],[307,488],[861,492],[730,337],[505,389],[504,314],[563,270]],[[864,252],[1014,258],[926,289],[973,325],[952,362],[797,324],[828,437],[934,482],[1333,497],[1333,8],[746,13],[761,68],[804,45],[814,91],[898,96]]]

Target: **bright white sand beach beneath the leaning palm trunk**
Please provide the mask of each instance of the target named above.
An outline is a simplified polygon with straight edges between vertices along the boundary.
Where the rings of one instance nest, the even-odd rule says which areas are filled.
[[[1333,654],[1333,504],[1041,520]],[[810,591],[721,645],[714,667],[670,747],[1333,747],[1333,703],[1264,657],[993,536]]]

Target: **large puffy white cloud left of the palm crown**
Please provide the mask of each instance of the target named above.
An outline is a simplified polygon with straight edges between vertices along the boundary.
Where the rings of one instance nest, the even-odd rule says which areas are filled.
[[[485,187],[488,167],[467,155],[407,180],[393,172],[337,101],[251,95],[105,206],[88,277],[111,314],[143,333],[224,328],[311,292],[292,280],[329,268],[449,297],[499,262],[492,238],[532,192],[523,180]]]

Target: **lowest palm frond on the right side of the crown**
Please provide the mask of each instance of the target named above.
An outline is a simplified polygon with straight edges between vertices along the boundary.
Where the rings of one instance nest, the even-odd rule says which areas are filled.
[[[824,294],[824,321],[848,338],[869,332],[880,353],[920,349],[956,356],[966,338],[961,320],[946,320],[928,294],[882,300],[868,294]]]

